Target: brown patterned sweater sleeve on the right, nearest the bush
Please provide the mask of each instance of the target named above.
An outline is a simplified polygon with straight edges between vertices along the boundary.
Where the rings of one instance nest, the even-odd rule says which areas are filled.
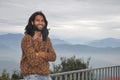
[[[56,60],[56,52],[52,46],[52,42],[49,37],[48,37],[48,43],[49,43],[49,45],[48,45],[49,47],[48,47],[47,53],[45,55],[45,58],[47,61],[55,61]]]

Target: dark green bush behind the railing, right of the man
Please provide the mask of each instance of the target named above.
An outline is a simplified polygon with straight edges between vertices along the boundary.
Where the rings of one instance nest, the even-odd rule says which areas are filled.
[[[61,63],[57,65],[53,64],[53,71],[51,71],[51,73],[87,69],[89,68],[90,59],[91,58],[88,58],[87,62],[84,62],[83,59],[76,59],[75,56],[72,56],[70,58],[61,57]]]

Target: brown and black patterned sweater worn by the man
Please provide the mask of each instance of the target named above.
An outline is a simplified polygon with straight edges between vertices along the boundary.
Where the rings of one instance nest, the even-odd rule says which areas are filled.
[[[56,60],[56,53],[49,37],[46,41],[40,38],[34,40],[29,34],[25,34],[21,40],[21,50],[20,69],[23,76],[50,74],[49,61]]]

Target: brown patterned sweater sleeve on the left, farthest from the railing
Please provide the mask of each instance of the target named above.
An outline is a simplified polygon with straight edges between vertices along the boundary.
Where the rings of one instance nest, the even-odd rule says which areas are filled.
[[[21,48],[22,48],[24,55],[28,59],[28,63],[31,66],[36,66],[36,65],[40,65],[44,63],[44,59],[36,55],[34,47],[32,46],[32,41],[31,41],[30,36],[23,37],[21,41]]]

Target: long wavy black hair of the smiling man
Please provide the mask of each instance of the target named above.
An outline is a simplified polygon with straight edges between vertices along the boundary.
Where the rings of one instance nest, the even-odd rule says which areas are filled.
[[[26,27],[25,27],[25,32],[24,32],[24,34],[29,34],[29,35],[32,36],[32,37],[34,36],[34,34],[35,34],[35,27],[33,27],[32,21],[35,20],[35,17],[36,17],[37,15],[43,16],[44,21],[45,21],[45,26],[44,26],[43,29],[41,30],[43,41],[45,41],[46,38],[47,38],[47,36],[48,36],[48,34],[49,34],[49,31],[48,31],[49,29],[47,29],[48,21],[46,20],[46,17],[45,17],[45,15],[42,13],[42,11],[37,11],[37,12],[33,13],[33,14],[30,16],[30,18],[29,18],[29,20],[28,20],[28,24],[27,24]]]

